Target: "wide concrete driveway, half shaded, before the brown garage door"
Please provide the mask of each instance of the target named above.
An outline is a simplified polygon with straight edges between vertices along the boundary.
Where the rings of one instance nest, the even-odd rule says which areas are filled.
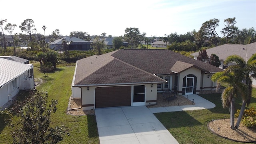
[[[95,109],[100,144],[178,144],[146,106]]]

